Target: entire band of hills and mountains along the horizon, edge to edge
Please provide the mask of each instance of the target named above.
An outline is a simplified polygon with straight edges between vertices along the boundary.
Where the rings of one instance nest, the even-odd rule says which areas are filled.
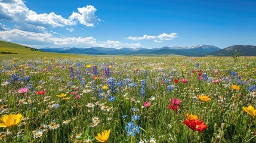
[[[43,52],[45,51],[45,52]],[[256,46],[253,45],[233,45],[224,49],[220,49],[213,45],[196,45],[189,47],[182,46],[163,46],[162,48],[30,48],[28,46],[16,43],[0,41],[0,54],[31,54],[44,55],[47,52],[70,53],[70,54],[91,54],[91,55],[184,55],[184,56],[232,56],[235,51],[240,56],[256,56]],[[51,53],[48,53],[51,54]],[[54,53],[53,53],[54,54]],[[66,55],[66,54],[65,54]]]

